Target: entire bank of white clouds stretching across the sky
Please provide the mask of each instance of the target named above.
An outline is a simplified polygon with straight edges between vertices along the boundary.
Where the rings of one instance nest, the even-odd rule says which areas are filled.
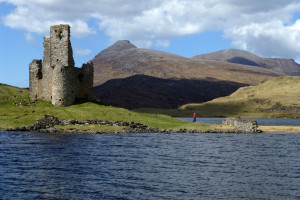
[[[295,0],[0,0],[16,6],[4,24],[48,34],[49,26],[69,23],[72,35],[96,31],[98,21],[112,42],[131,40],[144,47],[167,46],[175,37],[222,31],[237,48],[268,57],[300,54],[300,11]]]

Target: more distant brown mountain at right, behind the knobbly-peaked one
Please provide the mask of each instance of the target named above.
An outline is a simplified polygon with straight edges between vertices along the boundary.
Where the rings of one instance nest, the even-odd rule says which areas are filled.
[[[284,73],[286,75],[300,76],[300,65],[292,59],[262,58],[248,51],[238,49],[226,49],[194,56],[193,58],[257,66],[271,69],[278,73]]]

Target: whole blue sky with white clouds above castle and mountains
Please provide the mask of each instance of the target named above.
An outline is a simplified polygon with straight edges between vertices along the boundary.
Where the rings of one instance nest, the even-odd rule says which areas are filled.
[[[75,65],[118,40],[185,57],[242,49],[300,63],[299,0],[0,0],[0,83],[29,87],[50,26],[70,24]]]

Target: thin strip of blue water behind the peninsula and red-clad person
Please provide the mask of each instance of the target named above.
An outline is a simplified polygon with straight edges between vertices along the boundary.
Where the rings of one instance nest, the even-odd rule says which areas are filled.
[[[176,117],[178,119],[192,122],[192,117]],[[256,120],[258,125],[261,126],[282,126],[282,125],[300,125],[300,119],[290,119],[290,118],[249,118],[251,120]],[[197,118],[197,122],[204,124],[222,124],[224,118],[222,117],[212,117],[212,118]]]

